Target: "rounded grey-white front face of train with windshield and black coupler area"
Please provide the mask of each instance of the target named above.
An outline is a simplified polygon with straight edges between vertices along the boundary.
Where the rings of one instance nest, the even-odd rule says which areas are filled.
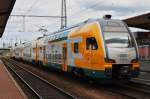
[[[120,20],[106,19],[101,22],[105,47],[105,69],[112,79],[130,79],[139,75],[137,43],[127,25]]]

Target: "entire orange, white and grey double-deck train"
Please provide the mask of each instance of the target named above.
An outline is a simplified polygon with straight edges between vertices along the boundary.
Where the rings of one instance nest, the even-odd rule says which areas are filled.
[[[100,79],[139,75],[138,49],[121,20],[96,19],[60,30],[14,49],[15,58]]]

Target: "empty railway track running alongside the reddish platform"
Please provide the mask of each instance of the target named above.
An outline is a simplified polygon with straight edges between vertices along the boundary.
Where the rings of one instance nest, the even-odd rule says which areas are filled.
[[[39,99],[75,99],[75,97],[54,84],[42,79],[17,63],[2,59],[4,64],[26,84]]]

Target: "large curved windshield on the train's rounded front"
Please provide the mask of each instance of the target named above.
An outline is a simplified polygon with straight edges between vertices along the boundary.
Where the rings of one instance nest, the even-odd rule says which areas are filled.
[[[120,21],[105,23],[104,39],[107,47],[134,47],[134,40],[131,38],[127,27]]]

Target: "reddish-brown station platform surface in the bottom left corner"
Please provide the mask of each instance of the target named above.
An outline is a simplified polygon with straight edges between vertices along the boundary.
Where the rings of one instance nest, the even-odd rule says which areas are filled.
[[[0,99],[27,99],[24,92],[0,60]]]

